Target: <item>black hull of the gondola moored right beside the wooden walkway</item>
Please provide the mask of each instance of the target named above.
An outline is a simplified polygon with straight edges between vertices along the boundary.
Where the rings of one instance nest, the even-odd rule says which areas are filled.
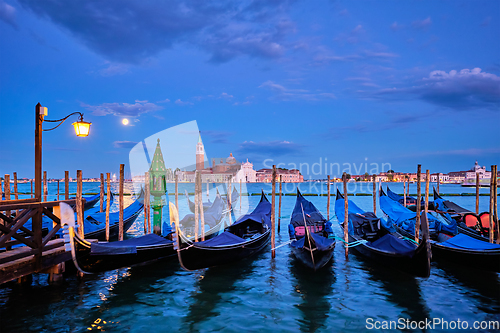
[[[78,236],[74,237],[74,246],[78,266],[88,273],[105,272],[163,259],[176,259],[177,256],[172,243],[137,247],[136,253],[116,255],[91,254],[90,243]]]

